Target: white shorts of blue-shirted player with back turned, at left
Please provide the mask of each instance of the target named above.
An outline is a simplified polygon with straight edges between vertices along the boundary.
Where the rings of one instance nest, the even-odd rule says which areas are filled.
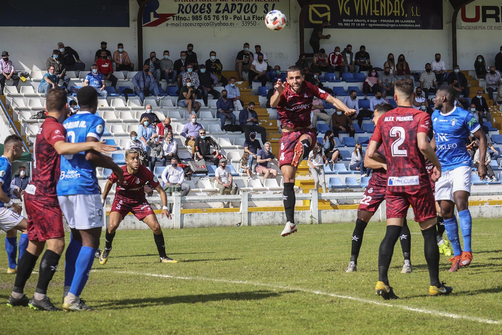
[[[103,206],[99,194],[58,196],[58,201],[70,228],[85,230],[103,226]]]

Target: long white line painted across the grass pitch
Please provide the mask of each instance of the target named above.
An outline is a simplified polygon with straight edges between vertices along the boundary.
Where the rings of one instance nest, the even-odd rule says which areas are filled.
[[[270,288],[274,288],[274,289],[284,289],[284,290],[290,290],[290,291],[295,290],[295,291],[302,291],[302,292],[307,292],[307,293],[312,293],[312,294],[327,295],[327,296],[334,297],[334,298],[348,299],[348,300],[358,301],[358,302],[362,302],[362,303],[366,303],[366,304],[373,304],[373,305],[386,306],[386,307],[396,307],[396,308],[401,308],[404,310],[409,310],[412,312],[417,312],[417,313],[422,313],[422,314],[432,314],[434,316],[439,315],[439,316],[450,317],[450,318],[454,318],[454,319],[464,319],[464,320],[470,320],[470,321],[475,321],[475,322],[480,322],[480,323],[488,323],[488,324],[501,324],[502,323],[502,321],[497,321],[497,320],[483,319],[483,318],[479,318],[479,317],[461,315],[461,314],[445,313],[445,312],[433,310],[433,309],[415,308],[415,307],[409,307],[406,305],[396,305],[396,304],[391,304],[391,303],[386,303],[386,302],[378,302],[378,301],[374,301],[374,300],[356,298],[356,297],[351,297],[351,296],[346,296],[346,295],[338,295],[338,294],[333,294],[333,293],[328,293],[328,292],[323,292],[323,291],[303,289],[303,288],[299,288],[299,287],[264,284],[264,283],[259,283],[259,282],[250,282],[250,281],[242,281],[242,280],[214,279],[214,278],[204,278],[204,277],[181,277],[181,276],[158,275],[158,274],[150,274],[150,273],[138,273],[138,272],[132,272],[132,271],[115,271],[115,272],[120,273],[120,274],[129,274],[129,275],[139,275],[139,276],[143,275],[143,276],[183,279],[183,280],[202,280],[202,281],[215,282],[215,283],[249,284],[249,285],[270,287]]]

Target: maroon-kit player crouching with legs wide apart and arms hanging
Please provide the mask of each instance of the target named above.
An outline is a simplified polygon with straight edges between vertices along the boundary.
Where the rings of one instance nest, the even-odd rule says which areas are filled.
[[[104,237],[105,246],[101,252],[101,256],[99,256],[99,263],[104,265],[108,261],[108,256],[111,251],[111,243],[115,237],[115,230],[117,230],[118,225],[122,222],[124,216],[129,214],[129,212],[133,213],[138,220],[145,222],[154,232],[154,240],[159,252],[160,262],[178,263],[178,261],[175,261],[166,255],[166,244],[164,242],[162,228],[157,220],[157,216],[145,197],[143,187],[148,182],[157,190],[157,192],[159,192],[163,206],[161,217],[166,215],[167,218],[171,220],[171,214],[169,214],[169,210],[167,208],[166,192],[164,192],[164,189],[160,186],[157,177],[155,177],[154,174],[145,167],[145,165],[140,164],[138,150],[126,151],[126,163],[127,165],[121,166],[124,176],[123,183],[117,183],[117,177],[113,173],[108,178],[108,181],[104,186],[101,199],[103,205],[106,196],[111,190],[111,185],[117,183],[115,199],[113,199],[113,203],[111,204],[111,211],[108,217],[108,228],[106,229]]]

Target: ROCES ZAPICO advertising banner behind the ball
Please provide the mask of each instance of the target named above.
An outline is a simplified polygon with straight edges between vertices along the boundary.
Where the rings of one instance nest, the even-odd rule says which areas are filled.
[[[289,27],[290,0],[152,0],[143,14],[143,27],[265,28],[265,15],[279,10]]]

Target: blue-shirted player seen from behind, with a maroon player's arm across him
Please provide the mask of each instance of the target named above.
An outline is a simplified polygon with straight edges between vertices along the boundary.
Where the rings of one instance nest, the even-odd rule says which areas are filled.
[[[83,87],[78,90],[80,111],[63,122],[66,141],[100,141],[104,121],[95,115],[96,90]],[[122,169],[102,154],[88,150],[61,156],[61,175],[57,185],[58,202],[71,228],[72,239],[66,249],[66,267],[63,309],[91,310],[79,298],[89,277],[94,254],[99,246],[103,226],[103,207],[99,197],[96,166],[111,169],[122,183]]]

